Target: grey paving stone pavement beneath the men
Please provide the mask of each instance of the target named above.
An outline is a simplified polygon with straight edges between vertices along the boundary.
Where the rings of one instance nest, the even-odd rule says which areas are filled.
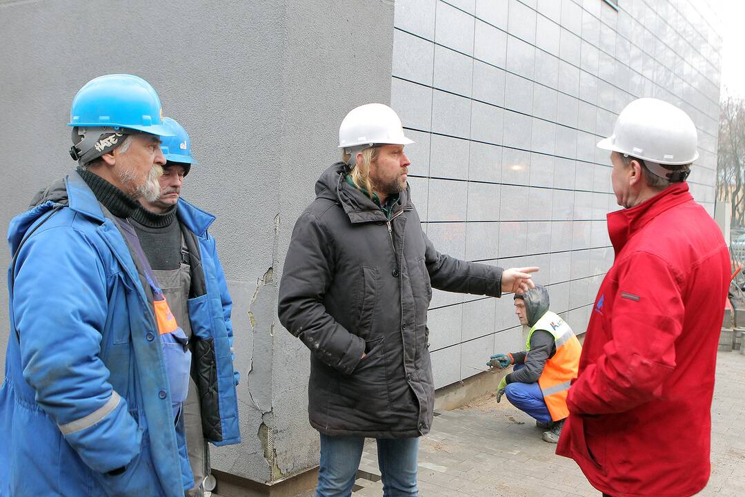
[[[711,421],[711,479],[698,495],[745,496],[745,355],[719,352]],[[419,495],[600,496],[541,434],[527,414],[492,396],[443,411],[419,442]],[[375,452],[368,440],[359,475],[370,479],[358,478],[353,496],[381,496]]]

